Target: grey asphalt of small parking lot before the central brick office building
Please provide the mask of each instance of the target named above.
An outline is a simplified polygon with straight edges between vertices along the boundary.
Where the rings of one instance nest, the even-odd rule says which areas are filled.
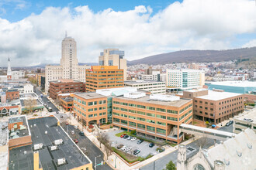
[[[139,139],[135,140],[135,141],[130,141],[124,138],[120,138],[120,137],[116,137],[115,134],[122,132],[120,130],[117,131],[109,131],[107,132],[107,134],[109,135],[109,140],[112,142],[112,146],[117,147],[118,145],[122,144],[124,146],[127,147],[131,147],[132,148],[132,152],[128,151],[127,153],[133,153],[133,151],[135,149],[139,149],[140,153],[138,154],[138,156],[146,158],[147,155],[157,155],[157,145],[154,145],[153,148],[150,148],[148,145],[150,144],[147,141],[142,142],[140,145],[137,144],[137,141],[139,141]]]

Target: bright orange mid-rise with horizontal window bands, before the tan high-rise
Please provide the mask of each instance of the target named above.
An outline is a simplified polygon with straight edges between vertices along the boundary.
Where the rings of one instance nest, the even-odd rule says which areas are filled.
[[[123,87],[123,69],[118,66],[92,66],[86,70],[86,91]]]

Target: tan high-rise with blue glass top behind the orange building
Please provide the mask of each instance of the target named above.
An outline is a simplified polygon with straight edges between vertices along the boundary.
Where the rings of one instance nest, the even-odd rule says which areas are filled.
[[[119,49],[104,49],[99,56],[99,66],[118,66],[123,69],[123,80],[126,80],[127,61],[123,56],[124,51]]]

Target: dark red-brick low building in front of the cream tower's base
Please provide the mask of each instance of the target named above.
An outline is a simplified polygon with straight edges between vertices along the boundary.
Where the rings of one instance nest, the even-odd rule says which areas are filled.
[[[85,83],[69,79],[50,82],[49,93],[52,99],[57,99],[60,93],[85,92]]]

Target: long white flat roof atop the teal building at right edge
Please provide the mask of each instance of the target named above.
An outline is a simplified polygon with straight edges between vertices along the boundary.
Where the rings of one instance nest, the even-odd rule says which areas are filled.
[[[213,85],[230,86],[230,87],[256,87],[256,81],[220,81],[210,82]]]

